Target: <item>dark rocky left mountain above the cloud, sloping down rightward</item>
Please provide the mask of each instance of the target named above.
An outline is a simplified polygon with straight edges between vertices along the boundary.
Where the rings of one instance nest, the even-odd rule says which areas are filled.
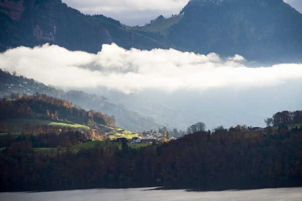
[[[0,51],[44,43],[93,53],[112,42],[127,49],[164,47],[123,28],[119,21],[84,15],[60,0],[1,0],[0,21]]]

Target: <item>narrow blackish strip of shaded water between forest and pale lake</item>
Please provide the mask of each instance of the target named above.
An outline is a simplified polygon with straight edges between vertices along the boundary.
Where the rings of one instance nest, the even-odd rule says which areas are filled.
[[[64,184],[64,185],[19,185],[6,186],[0,184],[0,192],[9,191],[60,191],[60,190],[77,190],[77,189],[118,189],[118,188],[155,188],[158,190],[175,190],[186,189],[188,191],[221,191],[221,190],[251,190],[264,188],[288,188],[288,187],[302,187],[301,179],[263,179],[263,180],[206,180],[203,182],[124,182],[124,183],[86,183],[86,184]]]

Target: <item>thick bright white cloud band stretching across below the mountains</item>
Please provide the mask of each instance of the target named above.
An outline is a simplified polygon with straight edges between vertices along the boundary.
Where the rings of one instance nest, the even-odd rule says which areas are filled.
[[[277,85],[302,78],[302,64],[248,67],[240,55],[221,59],[174,49],[126,50],[103,45],[98,54],[45,44],[0,54],[0,67],[62,88],[105,87],[125,93],[157,89],[208,90]]]

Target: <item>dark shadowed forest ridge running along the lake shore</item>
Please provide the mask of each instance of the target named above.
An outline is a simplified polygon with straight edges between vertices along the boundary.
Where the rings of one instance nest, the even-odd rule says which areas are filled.
[[[60,135],[81,138],[79,134]],[[90,149],[36,151],[33,143],[37,137],[4,139],[13,141],[0,153],[1,184],[8,189],[17,184],[102,185],[157,178],[173,182],[302,179],[302,126],[280,126],[272,133],[248,132],[241,126],[218,127],[212,132],[196,132],[140,149],[132,149],[123,142],[121,149],[97,144]],[[50,135],[49,139],[54,137]]]

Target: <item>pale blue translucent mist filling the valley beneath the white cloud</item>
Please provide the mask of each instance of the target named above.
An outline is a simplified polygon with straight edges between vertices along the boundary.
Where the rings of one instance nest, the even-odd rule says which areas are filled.
[[[203,122],[206,129],[212,130],[238,124],[265,127],[264,119],[272,116],[275,110],[298,110],[302,97],[297,90],[301,84],[302,81],[294,80],[263,88],[101,93],[106,94],[110,102],[122,102],[141,115],[153,116],[168,128],[185,130],[189,125]]]

